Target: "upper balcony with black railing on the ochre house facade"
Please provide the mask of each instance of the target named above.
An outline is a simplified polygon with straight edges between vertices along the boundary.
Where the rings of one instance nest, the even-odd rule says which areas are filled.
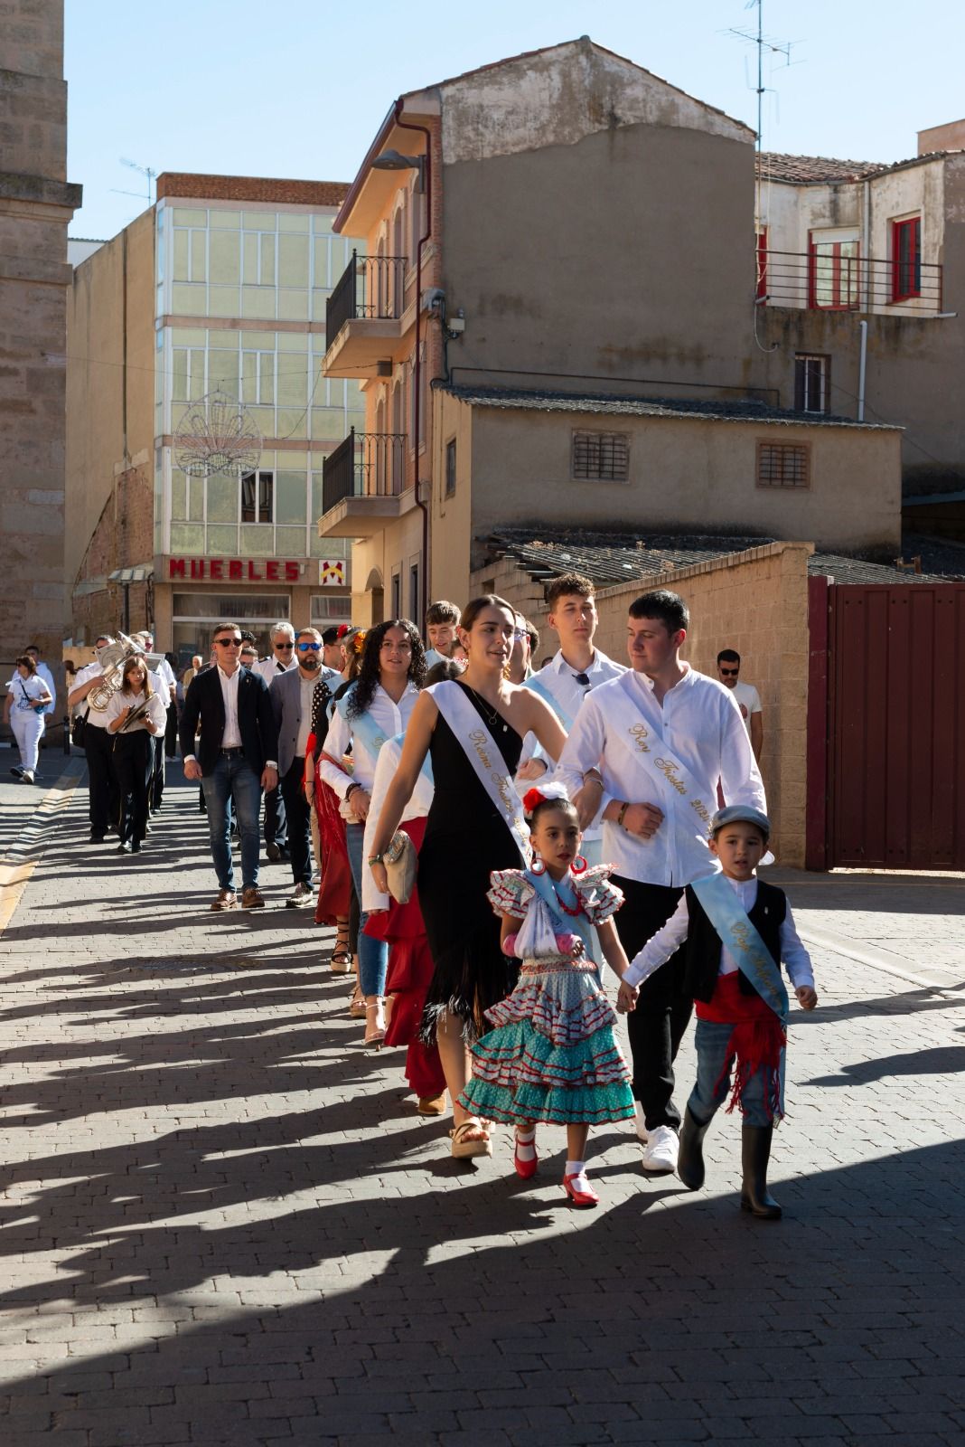
[[[352,252],[325,307],[326,376],[368,376],[376,362],[391,360],[406,310],[404,256]]]

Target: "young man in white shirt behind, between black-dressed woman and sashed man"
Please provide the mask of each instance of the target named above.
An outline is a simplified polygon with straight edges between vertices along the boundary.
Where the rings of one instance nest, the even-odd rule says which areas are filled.
[[[627,669],[614,663],[594,644],[597,632],[597,598],[591,579],[582,573],[563,573],[546,585],[546,608],[549,627],[559,638],[559,650],[553,658],[532,674],[527,687],[539,693],[550,705],[561,724],[569,732],[591,689],[618,679]],[[527,739],[529,742],[529,739]],[[533,783],[549,777],[546,760],[530,757],[523,747],[523,763],[517,773],[520,783]],[[592,825],[584,831],[582,852],[588,864],[601,864],[602,826]]]

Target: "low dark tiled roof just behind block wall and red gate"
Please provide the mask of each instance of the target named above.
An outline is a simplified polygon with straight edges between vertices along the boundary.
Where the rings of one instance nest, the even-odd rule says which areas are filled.
[[[592,532],[587,528],[498,528],[481,540],[491,559],[511,557],[536,580],[559,573],[585,573],[600,587],[627,583],[634,577],[670,574],[698,563],[714,563],[734,553],[773,543],[770,537],[727,537],[701,534],[621,532],[617,530]],[[926,544],[935,540],[906,538],[906,560],[920,556],[923,569],[933,566]],[[838,553],[815,553],[808,560],[808,572],[834,577],[835,583],[940,583],[965,577],[965,546],[955,554],[948,548],[948,567],[939,572],[914,573],[888,563],[845,557]],[[958,572],[955,569],[958,564]]]

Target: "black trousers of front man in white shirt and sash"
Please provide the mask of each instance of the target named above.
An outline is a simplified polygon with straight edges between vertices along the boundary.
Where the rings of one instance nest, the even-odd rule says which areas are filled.
[[[618,878],[613,883],[624,893],[623,909],[614,915],[620,943],[633,956],[652,935],[666,925],[683,890],[663,884],[640,884]],[[633,1056],[633,1094],[640,1101],[647,1130],[657,1126],[680,1129],[680,1111],[673,1103],[673,1062],[691,1023],[693,1001],[683,988],[683,949],[660,965],[640,985],[640,998],[627,1016],[627,1035]]]

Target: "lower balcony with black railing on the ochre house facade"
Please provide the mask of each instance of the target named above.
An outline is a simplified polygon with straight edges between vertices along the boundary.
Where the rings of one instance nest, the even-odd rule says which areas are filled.
[[[404,433],[357,433],[352,427],[322,463],[319,534],[367,537],[399,517],[404,462]]]

